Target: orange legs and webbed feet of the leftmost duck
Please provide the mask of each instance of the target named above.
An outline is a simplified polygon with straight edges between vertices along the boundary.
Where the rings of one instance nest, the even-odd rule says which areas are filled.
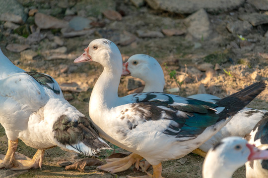
[[[8,149],[3,160],[0,160],[0,168],[10,170],[28,170],[41,168],[45,150],[37,150],[31,160],[25,155],[15,153],[18,145],[18,139],[8,140]]]

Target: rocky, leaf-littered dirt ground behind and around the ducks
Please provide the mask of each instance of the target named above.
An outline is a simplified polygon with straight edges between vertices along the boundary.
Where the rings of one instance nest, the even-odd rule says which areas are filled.
[[[88,116],[88,101],[102,67],[94,62],[73,64],[94,39],[118,45],[123,61],[151,55],[165,74],[165,92],[188,96],[230,95],[268,79],[267,0],[0,0],[0,48],[18,67],[51,75],[65,98]],[[119,95],[142,90],[144,82],[122,78]],[[268,109],[268,90],[250,103]],[[0,153],[7,139],[0,129]],[[122,152],[114,147],[114,152]],[[18,151],[32,157],[35,149],[20,141]],[[103,160],[112,152],[104,152]],[[0,170],[0,177],[115,178],[94,172],[65,172],[61,163],[80,155],[53,148],[45,153],[42,170]],[[203,158],[189,154],[163,163],[166,178],[201,178]],[[150,171],[150,170],[149,170]],[[133,169],[117,174],[138,176]],[[245,168],[234,178],[245,177]]]

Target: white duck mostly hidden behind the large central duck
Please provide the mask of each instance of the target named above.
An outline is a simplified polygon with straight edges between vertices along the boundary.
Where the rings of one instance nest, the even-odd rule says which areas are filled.
[[[135,54],[131,56],[128,61],[123,64],[122,75],[128,74],[131,74],[131,76],[139,78],[145,82],[145,87],[142,92],[163,92],[165,78],[163,70],[155,58],[146,54]],[[195,94],[188,97],[213,103],[220,100],[219,97],[211,94]],[[249,134],[254,126],[266,116],[268,116],[267,110],[244,108],[234,115],[232,120],[217,134],[213,135],[209,140],[204,142],[199,147],[201,151],[195,150],[194,152],[204,157],[205,153],[211,147],[216,145],[222,138],[227,136],[244,137],[245,134]]]

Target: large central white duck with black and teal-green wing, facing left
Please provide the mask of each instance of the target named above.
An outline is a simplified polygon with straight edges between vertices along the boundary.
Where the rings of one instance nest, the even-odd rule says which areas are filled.
[[[90,119],[103,138],[135,156],[98,167],[111,173],[125,169],[117,167],[122,162],[133,164],[144,158],[153,168],[153,174],[146,176],[162,178],[162,161],[198,148],[266,88],[261,81],[216,103],[162,92],[119,97],[123,62],[117,45],[93,40],[74,63],[90,61],[103,66],[89,100]]]

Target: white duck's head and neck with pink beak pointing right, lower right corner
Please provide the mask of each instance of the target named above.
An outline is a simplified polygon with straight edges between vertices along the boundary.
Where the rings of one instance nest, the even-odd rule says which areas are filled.
[[[203,178],[232,178],[247,161],[268,159],[268,150],[261,150],[239,136],[223,138],[209,149],[203,162]],[[267,177],[256,177],[267,178]]]

